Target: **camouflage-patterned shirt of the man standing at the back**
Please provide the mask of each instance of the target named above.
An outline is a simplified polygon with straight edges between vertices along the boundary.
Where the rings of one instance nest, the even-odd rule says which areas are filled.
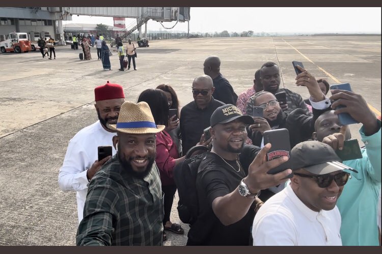
[[[276,91],[278,92],[285,92],[285,95],[287,97],[287,104],[288,104],[288,109],[284,111],[285,114],[289,114],[295,109],[303,109],[306,111],[308,115],[312,115],[305,104],[305,101],[303,100],[303,97],[299,95],[298,93],[292,92],[289,89],[286,88],[280,88],[279,90]],[[245,106],[245,111],[247,112],[248,115],[252,115],[252,109],[255,106],[255,102],[253,100],[253,96],[251,96],[248,101],[247,101],[247,106]]]

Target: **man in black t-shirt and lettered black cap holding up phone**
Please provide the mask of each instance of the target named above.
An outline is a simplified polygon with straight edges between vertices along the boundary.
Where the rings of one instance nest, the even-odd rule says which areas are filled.
[[[251,116],[231,104],[213,112],[212,149],[199,165],[196,181],[200,212],[190,226],[187,245],[248,245],[255,209],[262,204],[260,190],[285,182],[292,172],[267,174],[287,158],[266,162],[270,144],[261,150],[244,145],[246,127],[252,123]]]

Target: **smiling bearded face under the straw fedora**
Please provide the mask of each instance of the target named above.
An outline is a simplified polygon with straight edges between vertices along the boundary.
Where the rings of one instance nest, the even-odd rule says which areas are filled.
[[[117,145],[118,143],[118,145]],[[145,177],[155,160],[155,134],[127,134],[113,137],[121,166],[131,175]]]

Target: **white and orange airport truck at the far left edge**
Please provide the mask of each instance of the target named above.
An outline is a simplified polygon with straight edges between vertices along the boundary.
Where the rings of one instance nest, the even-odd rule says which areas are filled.
[[[30,52],[36,50],[36,46],[31,43],[26,33],[10,33],[8,39],[0,42],[0,50],[6,52]]]

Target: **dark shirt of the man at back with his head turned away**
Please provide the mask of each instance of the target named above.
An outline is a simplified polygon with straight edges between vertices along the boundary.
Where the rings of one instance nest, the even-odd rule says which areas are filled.
[[[233,91],[231,84],[222,74],[212,80],[215,91],[212,96],[225,104],[236,105],[237,94]]]

